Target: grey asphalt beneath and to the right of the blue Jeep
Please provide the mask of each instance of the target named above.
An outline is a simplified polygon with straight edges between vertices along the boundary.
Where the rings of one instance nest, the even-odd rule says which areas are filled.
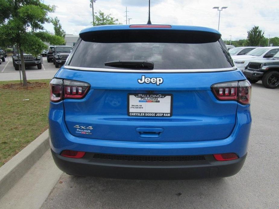
[[[279,208],[279,88],[252,84],[252,130],[242,170],[223,179],[103,179],[65,173],[42,208]]]

